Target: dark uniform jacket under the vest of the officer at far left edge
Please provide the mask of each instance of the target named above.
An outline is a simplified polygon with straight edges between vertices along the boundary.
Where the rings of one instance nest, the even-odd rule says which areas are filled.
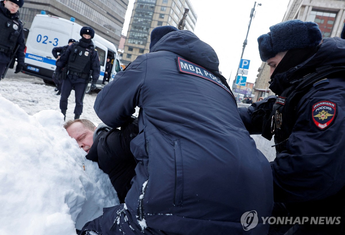
[[[8,17],[8,19],[16,20],[19,23],[19,36],[17,39],[17,45],[19,45],[19,48],[16,53],[17,63],[24,65],[24,49],[25,49],[25,42],[24,42],[24,33],[23,33],[23,25],[21,21],[19,20],[19,12],[11,14],[8,9],[4,7],[3,1],[0,2],[0,14],[3,14],[4,16]],[[6,22],[1,22],[2,24],[6,24]],[[0,52],[0,63],[7,64],[11,61],[11,58]]]

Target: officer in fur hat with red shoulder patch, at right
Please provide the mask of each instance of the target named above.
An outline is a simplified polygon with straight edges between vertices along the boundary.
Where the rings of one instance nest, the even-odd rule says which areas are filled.
[[[239,112],[250,133],[274,135],[274,215],[308,219],[269,234],[345,234],[345,40],[322,40],[316,23],[289,20],[258,43],[278,98]],[[311,224],[312,217],[335,221]]]

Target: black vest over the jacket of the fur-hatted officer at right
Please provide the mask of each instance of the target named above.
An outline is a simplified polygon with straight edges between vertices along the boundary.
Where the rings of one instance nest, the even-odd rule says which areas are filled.
[[[265,125],[266,130],[263,131],[265,133],[270,132],[272,135],[274,134],[274,146],[277,154],[286,150],[286,142],[298,118],[297,105],[300,99],[312,88],[314,83],[325,79],[326,76],[344,71],[345,66],[319,68],[316,72],[308,74],[300,80],[295,80],[294,85],[285,89],[278,96],[273,106],[273,111],[270,114],[271,118]]]

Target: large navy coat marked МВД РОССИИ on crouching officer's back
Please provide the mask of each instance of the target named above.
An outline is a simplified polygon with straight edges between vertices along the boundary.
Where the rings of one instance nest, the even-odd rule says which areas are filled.
[[[140,108],[131,142],[139,163],[125,200],[137,226],[168,234],[268,231],[261,219],[249,231],[240,221],[250,211],[270,216],[272,171],[220,82],[218,64],[194,33],[174,31],[98,94],[94,108],[108,126]]]

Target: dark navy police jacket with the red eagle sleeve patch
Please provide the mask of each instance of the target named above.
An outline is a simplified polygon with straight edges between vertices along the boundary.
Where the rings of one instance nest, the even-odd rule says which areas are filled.
[[[345,40],[326,38],[311,58],[277,74],[274,81],[279,84],[271,85],[286,89],[288,84],[303,81],[303,76],[317,68],[344,64]],[[272,108],[273,97],[270,99],[268,106]],[[257,102],[249,109],[239,108],[249,132],[258,133],[262,128],[253,125],[253,113],[264,108],[266,101]],[[296,109],[282,117],[282,122],[292,119],[296,121],[291,126],[286,147],[272,162],[275,201],[290,204],[299,215],[338,216],[344,209],[345,198],[344,72],[313,83],[298,100]]]

